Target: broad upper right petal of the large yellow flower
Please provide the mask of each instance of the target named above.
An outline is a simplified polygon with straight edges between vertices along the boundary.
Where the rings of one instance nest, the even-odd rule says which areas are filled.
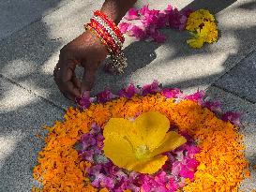
[[[136,129],[133,131],[133,139],[143,140],[150,151],[158,147],[170,127],[169,119],[157,111],[143,113],[134,123]]]

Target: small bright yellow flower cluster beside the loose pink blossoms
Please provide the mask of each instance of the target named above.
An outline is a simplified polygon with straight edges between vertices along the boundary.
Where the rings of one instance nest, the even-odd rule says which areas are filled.
[[[188,39],[192,48],[201,48],[204,42],[213,43],[218,40],[218,27],[214,16],[205,9],[199,9],[188,16],[186,29],[193,36]]]

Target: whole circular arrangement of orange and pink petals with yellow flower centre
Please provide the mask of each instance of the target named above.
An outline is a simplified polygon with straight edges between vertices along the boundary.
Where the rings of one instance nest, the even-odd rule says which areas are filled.
[[[158,81],[82,97],[46,127],[34,178],[42,191],[237,191],[248,174],[239,115],[203,91]]]

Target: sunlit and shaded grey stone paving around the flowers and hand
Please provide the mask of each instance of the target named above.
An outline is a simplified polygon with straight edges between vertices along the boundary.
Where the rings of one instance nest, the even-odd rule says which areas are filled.
[[[8,0],[0,2],[0,191],[29,191],[41,126],[62,119],[73,105],[58,92],[52,71],[60,48],[83,32],[102,0]],[[98,72],[94,93],[134,81],[158,79],[189,93],[205,89],[225,111],[242,111],[247,156],[256,164],[256,2],[255,0],[141,1],[152,7],[204,7],[217,16],[218,43],[199,51],[186,45],[187,33],[166,30],[164,44],[127,38],[128,69],[123,76]],[[256,171],[241,189],[256,189]]]

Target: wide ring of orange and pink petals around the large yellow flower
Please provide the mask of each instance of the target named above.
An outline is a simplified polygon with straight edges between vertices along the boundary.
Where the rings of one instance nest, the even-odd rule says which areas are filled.
[[[248,175],[243,136],[235,126],[239,115],[222,115],[219,103],[204,101],[203,95],[186,96],[154,81],[143,88],[130,84],[117,96],[105,90],[95,98],[78,99],[83,111],[69,108],[64,122],[46,127],[46,145],[34,169],[42,188],[33,190],[237,191]],[[120,169],[102,153],[102,128],[111,118],[136,118],[146,111],[164,114],[171,129],[188,140],[168,152],[167,163],[153,175]]]

